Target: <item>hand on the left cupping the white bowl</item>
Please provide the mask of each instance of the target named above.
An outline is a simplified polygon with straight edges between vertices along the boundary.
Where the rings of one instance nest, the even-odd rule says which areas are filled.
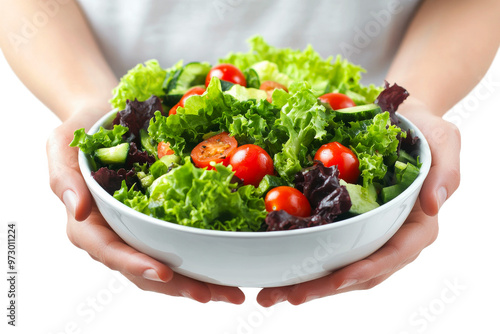
[[[88,129],[100,115],[97,110],[74,114],[54,130],[47,142],[50,184],[66,205],[71,242],[94,260],[120,271],[143,290],[189,297],[202,303],[210,300],[243,303],[245,296],[240,289],[199,282],[174,273],[165,264],[125,244],[109,227],[80,173],[78,149],[69,147],[73,132],[81,127]]]

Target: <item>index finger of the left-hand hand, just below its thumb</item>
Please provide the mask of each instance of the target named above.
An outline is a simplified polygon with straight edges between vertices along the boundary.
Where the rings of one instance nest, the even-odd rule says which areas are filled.
[[[97,208],[83,222],[70,218],[67,233],[73,244],[113,270],[153,281],[168,282],[172,279],[173,272],[165,264],[126,245],[109,228]]]

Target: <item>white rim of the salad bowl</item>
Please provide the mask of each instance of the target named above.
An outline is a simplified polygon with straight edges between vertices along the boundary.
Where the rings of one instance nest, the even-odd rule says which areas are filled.
[[[93,134],[99,130],[101,126],[107,126],[111,124],[114,116],[118,112],[118,109],[113,109],[106,113],[104,116],[102,116],[94,125],[89,129],[88,133]],[[415,124],[413,124],[411,121],[409,121],[406,117],[402,116],[401,114],[397,113],[400,121],[402,123],[405,123],[405,128],[406,129],[413,129],[415,131],[415,135],[418,136],[420,139],[419,145],[420,145],[420,156],[425,152],[425,155],[428,156],[429,158],[426,159],[425,161],[422,162],[422,166],[420,168],[420,173],[417,176],[417,178],[413,181],[413,183],[406,188],[401,194],[399,194],[396,198],[392,199],[391,201],[384,203],[380,205],[379,207],[370,210],[368,212],[365,212],[363,214],[346,218],[344,220],[330,223],[330,224],[325,224],[325,225],[320,225],[320,226],[312,226],[308,228],[301,228],[301,229],[294,229],[294,230],[285,230],[285,231],[257,231],[257,232],[251,232],[251,231],[220,231],[220,230],[208,230],[208,229],[201,229],[197,227],[192,227],[192,226],[185,226],[185,225],[179,225],[177,223],[172,223],[166,220],[161,220],[159,218],[155,218],[152,216],[148,216],[144,213],[138,212],[124,203],[118,201],[115,199],[112,195],[107,193],[104,188],[102,188],[91,176],[91,168],[90,168],[90,163],[88,161],[88,155],[83,153],[81,150],[78,150],[78,165],[80,167],[80,172],[83,175],[83,178],[85,180],[85,183],[87,184],[87,187],[91,191],[92,194],[97,195],[100,199],[102,199],[104,202],[108,203],[111,206],[117,207],[117,209],[124,211],[128,215],[133,216],[134,218],[137,218],[142,221],[147,221],[150,224],[157,225],[160,227],[166,227],[166,228],[171,228],[174,230],[178,231],[183,231],[183,232],[188,232],[188,233],[193,233],[193,234],[199,234],[199,235],[205,235],[205,236],[213,236],[213,237],[235,237],[235,238],[275,238],[275,237],[290,237],[298,234],[309,234],[309,233],[318,233],[324,230],[328,229],[335,229],[335,228],[341,228],[345,225],[349,224],[355,224],[360,221],[365,221],[366,219],[370,218],[371,216],[377,215],[380,212],[390,210],[395,205],[398,205],[400,201],[397,199],[402,199],[408,197],[411,193],[417,190],[417,188],[421,187],[423,184],[425,178],[427,177],[430,167],[431,167],[431,162],[432,162],[432,154],[431,150],[429,147],[429,143],[427,142],[426,138],[418,129]],[[109,224],[109,223],[108,223]],[[110,224],[111,225],[111,224]]]

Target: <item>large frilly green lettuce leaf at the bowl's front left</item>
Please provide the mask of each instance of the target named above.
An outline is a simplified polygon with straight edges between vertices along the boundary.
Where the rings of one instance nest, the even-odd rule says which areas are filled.
[[[114,197],[129,207],[180,225],[225,231],[259,231],[266,210],[251,185],[237,188],[231,168],[215,170],[184,165],[156,179],[149,196],[125,183]],[[233,191],[236,190],[236,191]]]

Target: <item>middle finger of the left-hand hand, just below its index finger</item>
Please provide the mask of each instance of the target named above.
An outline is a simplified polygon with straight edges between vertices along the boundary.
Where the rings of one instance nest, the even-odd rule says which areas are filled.
[[[167,283],[147,280],[129,273],[124,273],[124,276],[145,291],[190,298],[200,303],[208,303],[212,297],[207,284],[177,273],[174,273],[172,279]]]

